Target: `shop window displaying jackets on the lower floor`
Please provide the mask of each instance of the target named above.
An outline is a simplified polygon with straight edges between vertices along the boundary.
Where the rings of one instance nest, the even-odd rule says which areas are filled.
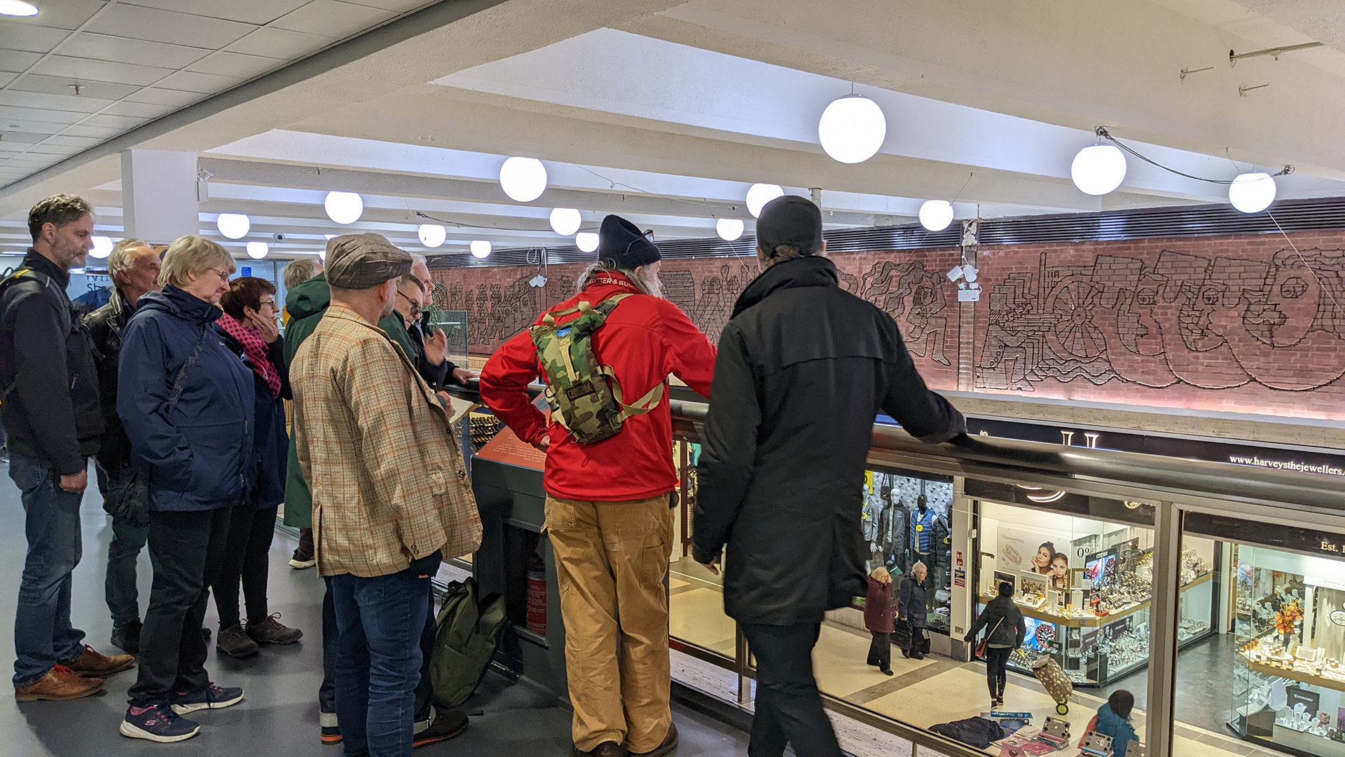
[[[952,480],[869,470],[863,482],[863,539],[869,571],[886,567],[900,583],[924,563],[927,630],[948,633],[952,599]]]

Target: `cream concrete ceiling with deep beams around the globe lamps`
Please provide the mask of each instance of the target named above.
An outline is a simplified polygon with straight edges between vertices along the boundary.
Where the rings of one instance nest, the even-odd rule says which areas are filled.
[[[288,18],[286,1],[134,7],[221,8],[210,15],[268,27]],[[335,189],[364,197],[355,228],[410,249],[429,222],[417,211],[445,221],[449,242],[432,253],[463,253],[473,238],[570,244],[549,228],[557,206],[580,209],[585,228],[621,213],[658,238],[712,236],[720,217],[751,229],[752,182],[822,187],[833,226],[908,222],[928,198],[955,199],[959,218],[1227,202],[1219,185],[1139,160],[1119,191],[1084,195],[1069,163],[1099,124],[1186,174],[1294,164],[1280,198],[1345,195],[1341,3],[851,0],[838,12],[807,0],[445,0],[404,18],[422,3],[352,3],[379,7],[381,28],[297,63],[269,58],[278,70],[0,174],[11,182],[0,245],[23,242],[23,213],[52,191],[86,193],[117,237],[117,154],[129,147],[200,154],[203,233],[218,240],[218,213],[247,213],[249,238],[286,236],[277,255],[312,253],[347,229],[321,209]],[[130,3],[86,5],[97,20]],[[1325,46],[1229,63],[1229,50],[1303,42]],[[43,74],[15,81],[32,75]],[[881,151],[855,166],[816,139],[822,109],[851,89],[888,116]],[[0,105],[0,127],[12,108]],[[546,164],[538,201],[500,191],[510,155]]]

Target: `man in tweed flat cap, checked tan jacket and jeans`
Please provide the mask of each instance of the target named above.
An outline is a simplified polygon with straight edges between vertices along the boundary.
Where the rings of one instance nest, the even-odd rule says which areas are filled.
[[[482,539],[444,401],[375,326],[410,268],[377,234],[331,240],[331,306],[291,366],[317,571],[336,609],[347,754],[412,753],[429,579]]]

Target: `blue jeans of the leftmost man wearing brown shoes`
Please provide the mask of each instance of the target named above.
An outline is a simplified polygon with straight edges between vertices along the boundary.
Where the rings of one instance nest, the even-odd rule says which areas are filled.
[[[79,501],[61,488],[55,467],[9,453],[9,478],[23,492],[28,556],[13,618],[13,684],[36,683],[83,653],[83,632],[70,625],[70,574],[82,554]],[[424,603],[424,602],[422,602]],[[420,632],[420,626],[416,626]]]

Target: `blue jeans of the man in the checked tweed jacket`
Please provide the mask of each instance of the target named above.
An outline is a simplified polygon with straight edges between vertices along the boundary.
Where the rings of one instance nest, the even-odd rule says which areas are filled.
[[[346,754],[409,757],[429,578],[410,570],[331,579],[340,637],[336,715]]]

